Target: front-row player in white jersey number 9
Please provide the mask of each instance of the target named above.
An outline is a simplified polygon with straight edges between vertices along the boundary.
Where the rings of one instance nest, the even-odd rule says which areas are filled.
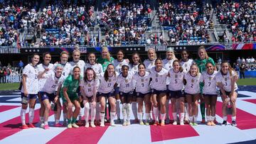
[[[151,110],[151,95],[150,95],[150,75],[149,72],[146,72],[146,67],[143,63],[139,64],[139,72],[134,74],[133,76],[135,82],[135,91],[136,97],[138,102],[138,117],[139,117],[139,124],[144,125],[142,121],[142,108],[143,108],[143,101],[146,107],[146,125],[149,125],[149,118],[150,118],[150,110]]]

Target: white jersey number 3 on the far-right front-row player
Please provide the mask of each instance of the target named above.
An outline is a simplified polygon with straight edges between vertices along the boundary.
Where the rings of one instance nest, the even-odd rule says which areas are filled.
[[[231,77],[234,77],[234,76],[235,76],[235,72],[232,71]],[[231,92],[231,77],[230,77],[230,72],[228,72],[228,74],[223,75],[219,71],[218,74],[216,74],[217,82],[221,82],[224,85],[223,88],[226,92]],[[234,89],[235,90],[238,89],[238,84],[236,84],[236,82],[235,82]]]

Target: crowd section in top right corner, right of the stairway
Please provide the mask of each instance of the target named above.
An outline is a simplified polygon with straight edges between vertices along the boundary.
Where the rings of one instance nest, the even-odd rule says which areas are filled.
[[[233,42],[256,41],[256,1],[222,1],[217,4],[217,17],[233,33]]]

